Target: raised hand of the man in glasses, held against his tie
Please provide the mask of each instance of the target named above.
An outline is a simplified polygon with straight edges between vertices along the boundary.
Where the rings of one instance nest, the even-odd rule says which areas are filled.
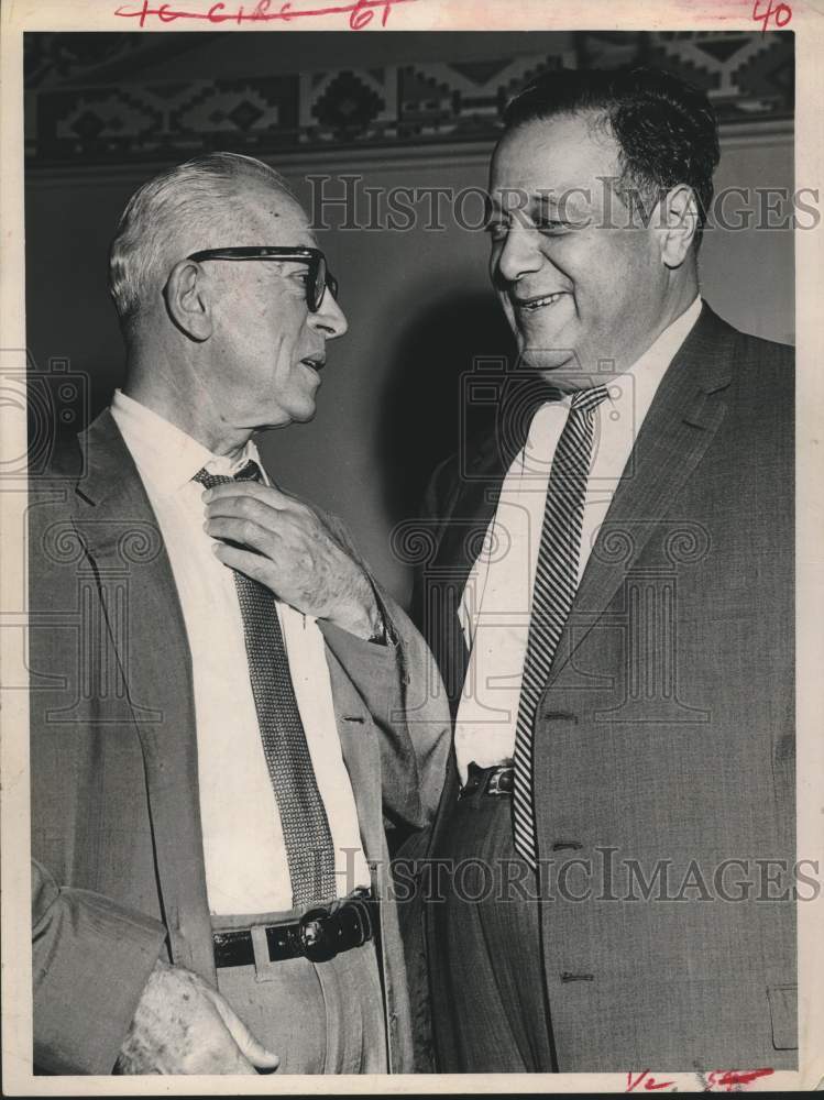
[[[284,603],[360,638],[381,632],[381,610],[361,566],[318,514],[260,482],[230,482],[204,493],[206,531],[217,557],[265,584]]]

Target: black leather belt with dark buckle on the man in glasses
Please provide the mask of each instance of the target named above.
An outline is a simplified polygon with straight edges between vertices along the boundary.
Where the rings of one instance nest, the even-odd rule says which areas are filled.
[[[299,921],[270,925],[265,933],[271,963],[295,958],[326,963],[377,936],[377,902],[371,891],[356,891],[344,901],[309,910]],[[216,967],[254,965],[250,930],[216,932],[212,941]]]

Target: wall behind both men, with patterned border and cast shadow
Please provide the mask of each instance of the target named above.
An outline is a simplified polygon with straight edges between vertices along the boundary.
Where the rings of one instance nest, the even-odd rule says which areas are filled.
[[[162,42],[160,40],[163,40]],[[154,41],[153,41],[154,40]],[[702,84],[722,118],[716,188],[792,190],[792,37],[681,34],[289,34],[29,36],[26,322],[42,371],[70,361],[88,407],[122,378],[107,252],[134,188],[206,148],[278,167],[308,208],[360,175],[363,187],[484,187],[506,97],[554,65],[663,64]],[[349,185],[351,188],[353,184]],[[350,191],[352,195],[353,191]],[[734,198],[728,210],[758,200]],[[785,206],[785,205],[784,205]],[[784,210],[779,201],[780,210]],[[405,598],[389,547],[432,465],[460,446],[461,380],[474,359],[510,353],[486,277],[487,242],[448,201],[442,228],[416,205],[408,231],[340,228],[319,239],[341,280],[350,331],[332,345],[310,425],[270,432],[274,477],[341,515],[378,575]],[[477,200],[463,207],[480,219]],[[785,219],[784,219],[785,220]],[[772,217],[777,223],[779,216]],[[783,229],[713,228],[703,293],[734,324],[792,341],[793,246]]]

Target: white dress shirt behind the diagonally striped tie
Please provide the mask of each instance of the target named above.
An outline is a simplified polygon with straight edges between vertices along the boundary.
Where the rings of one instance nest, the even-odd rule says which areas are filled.
[[[656,391],[700,312],[696,297],[626,373],[609,382],[609,396],[595,410],[579,583]],[[570,404],[571,397],[547,403],[535,414],[461,598],[459,616],[470,650],[454,735],[462,783],[471,761],[487,768],[510,761],[515,750],[543,507]]]

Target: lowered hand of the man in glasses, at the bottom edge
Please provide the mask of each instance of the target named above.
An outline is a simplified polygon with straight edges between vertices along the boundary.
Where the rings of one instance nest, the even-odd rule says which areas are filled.
[[[120,1048],[116,1071],[253,1074],[276,1069],[279,1060],[202,978],[158,959]]]

